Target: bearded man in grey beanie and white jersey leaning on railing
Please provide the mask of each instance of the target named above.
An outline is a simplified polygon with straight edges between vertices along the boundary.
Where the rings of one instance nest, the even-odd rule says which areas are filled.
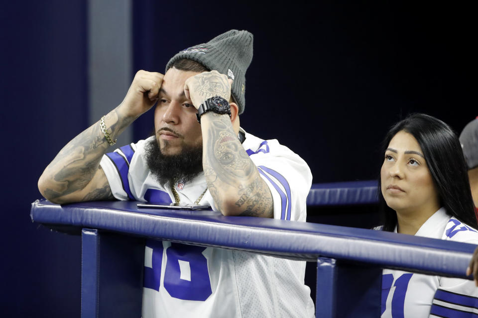
[[[41,193],[55,203],[174,201],[305,221],[305,161],[239,127],[251,59],[252,34],[231,30],[176,54],[164,76],[139,71],[121,104],[48,165]],[[107,153],[154,104],[154,136]],[[312,317],[304,273],[305,262],[150,240],[142,317]]]

